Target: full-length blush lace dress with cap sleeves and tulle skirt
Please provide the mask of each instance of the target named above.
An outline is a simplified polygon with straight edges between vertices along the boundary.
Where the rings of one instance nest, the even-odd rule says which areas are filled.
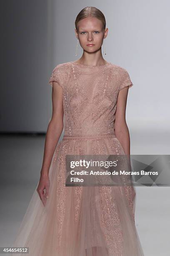
[[[114,120],[119,91],[133,86],[128,72],[70,61],[53,69],[52,81],[63,89],[64,137],[52,157],[47,203],[36,187],[13,246],[29,247],[30,256],[143,256],[135,187],[65,186],[66,154],[125,154]]]

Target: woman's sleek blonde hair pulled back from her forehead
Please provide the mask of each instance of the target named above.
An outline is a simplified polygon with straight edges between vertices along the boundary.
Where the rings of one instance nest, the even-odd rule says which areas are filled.
[[[101,22],[103,24],[103,29],[106,28],[106,20],[105,20],[104,14],[96,7],[87,6],[80,11],[80,13],[77,15],[77,17],[75,19],[75,28],[77,31],[78,31],[77,23],[80,20],[87,18],[87,17],[95,17],[95,18],[101,20]]]

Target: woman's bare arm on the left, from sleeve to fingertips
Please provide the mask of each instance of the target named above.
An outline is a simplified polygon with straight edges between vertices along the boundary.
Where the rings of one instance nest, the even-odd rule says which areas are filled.
[[[48,196],[48,190],[50,186],[48,172],[50,169],[50,164],[52,161],[52,156],[55,151],[55,147],[61,136],[62,130],[64,128],[63,123],[63,101],[62,101],[63,89],[57,84],[57,82],[52,82],[52,118],[48,124],[47,133],[45,137],[45,148],[42,161],[42,168],[40,172],[40,182],[37,187],[37,192],[45,205],[45,197]],[[43,193],[43,190],[46,193]]]

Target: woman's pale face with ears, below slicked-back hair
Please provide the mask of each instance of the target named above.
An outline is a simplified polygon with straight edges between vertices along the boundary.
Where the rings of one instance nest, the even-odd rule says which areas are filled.
[[[101,48],[103,39],[106,38],[108,28],[103,29],[102,22],[94,17],[80,20],[75,29],[76,37],[81,47],[87,52],[94,52]]]

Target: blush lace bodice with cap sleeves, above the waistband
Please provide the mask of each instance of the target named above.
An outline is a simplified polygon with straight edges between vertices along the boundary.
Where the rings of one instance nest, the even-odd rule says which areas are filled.
[[[63,89],[65,136],[113,134],[118,93],[133,86],[127,70],[112,63],[58,64],[52,81]]]

